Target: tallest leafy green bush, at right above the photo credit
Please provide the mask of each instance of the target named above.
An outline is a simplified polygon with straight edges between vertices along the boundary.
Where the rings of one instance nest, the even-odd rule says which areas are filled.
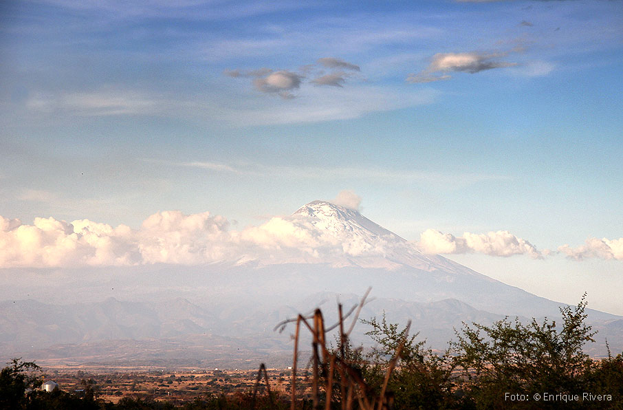
[[[510,407],[506,393],[580,394],[591,370],[589,356],[582,347],[594,341],[595,332],[584,323],[584,297],[571,309],[560,308],[562,326],[545,319],[523,325],[516,319],[497,321],[491,326],[474,323],[457,332],[458,364],[462,368],[468,396],[479,409]],[[567,408],[581,405],[568,402]],[[547,408],[550,403],[525,400],[517,408]],[[559,405],[559,404],[556,404]]]

